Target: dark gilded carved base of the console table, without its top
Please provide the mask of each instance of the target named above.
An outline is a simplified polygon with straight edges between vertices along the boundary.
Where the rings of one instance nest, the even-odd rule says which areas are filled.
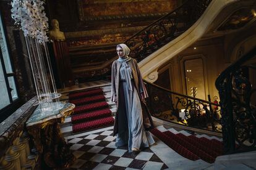
[[[75,157],[61,134],[59,123],[73,113],[74,105],[62,109],[58,115],[27,124],[28,133],[33,136],[36,150],[42,155],[42,168],[63,169],[74,163]]]

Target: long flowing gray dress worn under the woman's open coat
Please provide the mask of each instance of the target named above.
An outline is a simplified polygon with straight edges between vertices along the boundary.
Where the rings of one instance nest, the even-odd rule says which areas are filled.
[[[129,152],[132,152],[132,148],[149,147],[155,141],[150,132],[145,131],[143,127],[140,98],[132,79],[132,70],[127,63],[122,62],[119,74],[119,117],[116,146],[128,145]]]

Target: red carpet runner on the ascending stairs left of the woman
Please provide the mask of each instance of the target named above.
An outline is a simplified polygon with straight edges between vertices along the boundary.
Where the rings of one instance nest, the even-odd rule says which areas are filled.
[[[69,102],[75,104],[74,115],[71,117],[73,133],[114,124],[114,118],[102,89],[90,89],[69,94]]]

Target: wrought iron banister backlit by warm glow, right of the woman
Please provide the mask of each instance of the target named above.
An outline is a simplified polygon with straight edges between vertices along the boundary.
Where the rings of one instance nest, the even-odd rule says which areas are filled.
[[[169,91],[144,80],[151,115],[173,123],[220,132],[220,105]]]

